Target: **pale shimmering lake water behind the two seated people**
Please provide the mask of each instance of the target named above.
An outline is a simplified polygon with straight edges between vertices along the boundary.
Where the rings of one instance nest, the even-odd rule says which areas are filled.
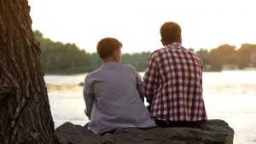
[[[88,122],[79,86],[85,75],[44,76],[55,128]],[[203,95],[208,119],[225,120],[235,130],[235,144],[256,143],[256,71],[204,72]]]

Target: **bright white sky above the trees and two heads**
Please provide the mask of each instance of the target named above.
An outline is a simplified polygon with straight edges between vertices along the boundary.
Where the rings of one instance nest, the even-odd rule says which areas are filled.
[[[123,43],[123,53],[162,48],[160,26],[177,22],[183,46],[213,49],[256,43],[255,0],[28,0],[32,29],[62,43],[96,52],[103,37]]]

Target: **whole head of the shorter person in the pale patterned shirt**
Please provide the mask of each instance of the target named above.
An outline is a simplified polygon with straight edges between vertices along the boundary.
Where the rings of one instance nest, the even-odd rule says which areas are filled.
[[[104,61],[114,60],[117,62],[121,61],[121,51],[123,44],[117,39],[112,37],[102,38],[97,43],[97,53]]]

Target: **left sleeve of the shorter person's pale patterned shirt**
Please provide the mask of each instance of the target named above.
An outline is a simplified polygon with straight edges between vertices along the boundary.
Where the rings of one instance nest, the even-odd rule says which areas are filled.
[[[93,95],[93,89],[91,87],[90,83],[90,78],[85,78],[84,80],[84,90],[83,90],[83,95],[84,95],[84,101],[85,101],[85,115],[89,118],[90,120],[90,113],[93,107],[93,103],[95,101],[95,96]]]

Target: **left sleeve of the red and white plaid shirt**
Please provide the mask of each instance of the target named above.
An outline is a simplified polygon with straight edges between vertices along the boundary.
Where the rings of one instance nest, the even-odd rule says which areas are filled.
[[[154,93],[159,85],[159,72],[155,55],[148,58],[147,69],[143,77],[144,95],[149,105],[152,104]]]

